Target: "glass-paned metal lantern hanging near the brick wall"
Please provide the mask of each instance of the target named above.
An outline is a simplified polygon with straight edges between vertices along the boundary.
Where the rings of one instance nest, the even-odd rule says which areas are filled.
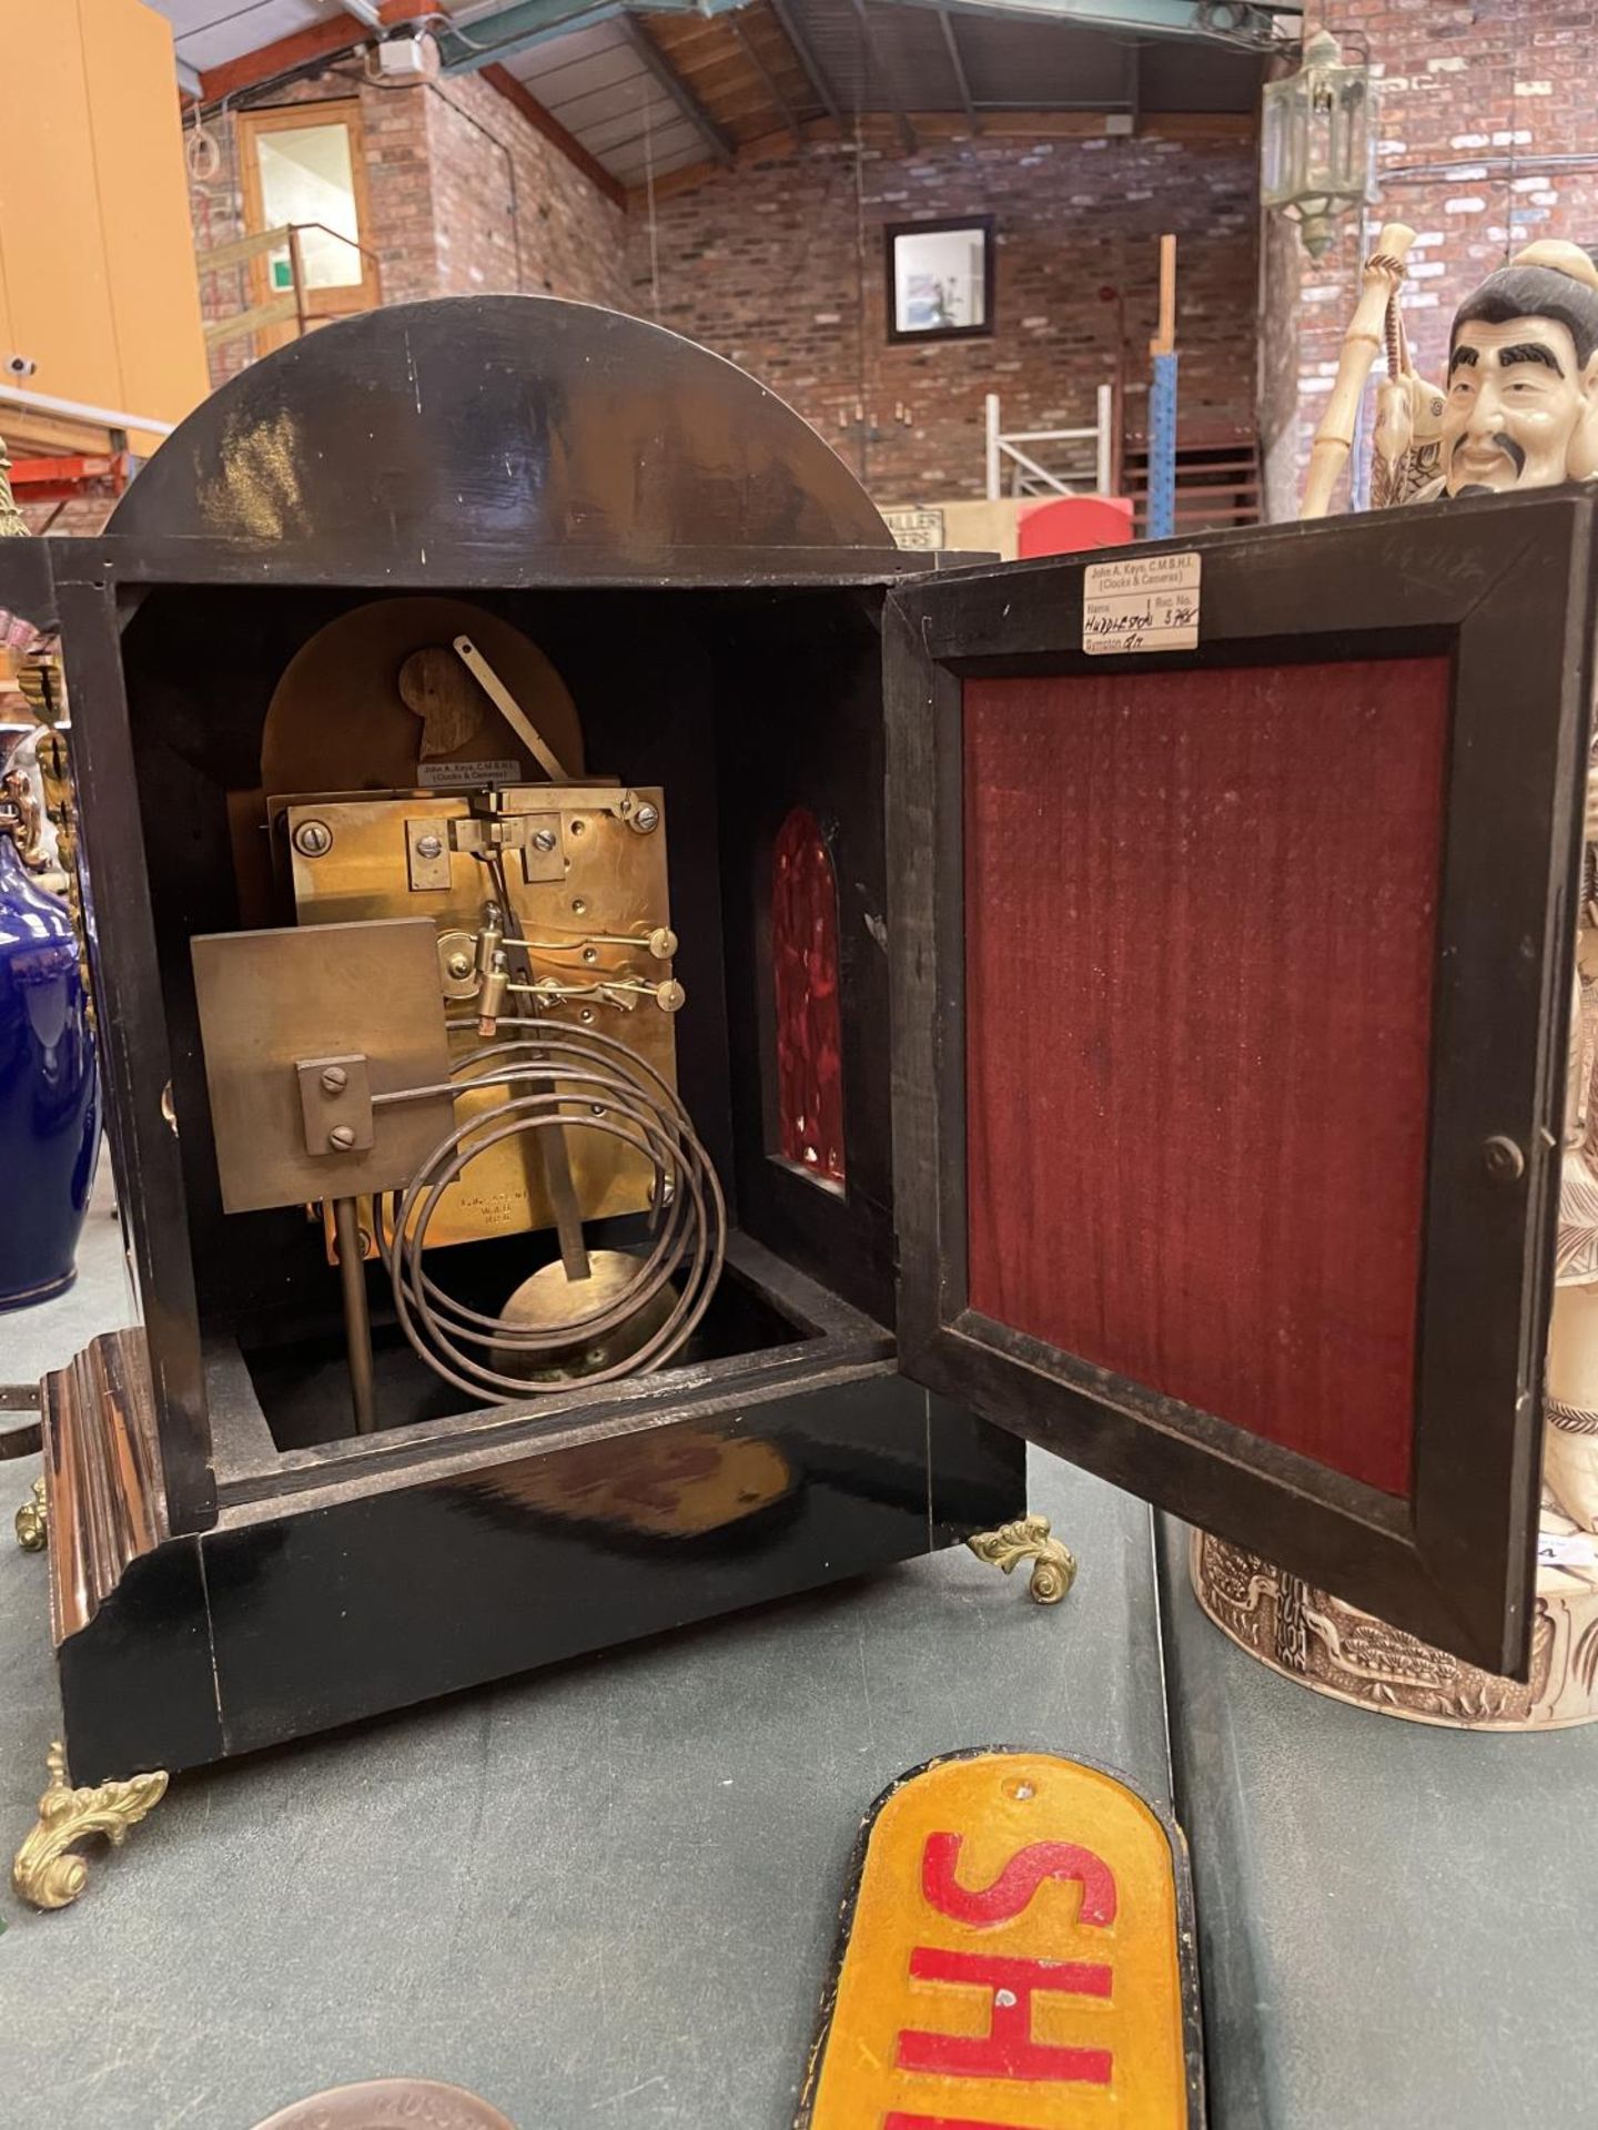
[[[1366,198],[1374,100],[1370,66],[1349,64],[1330,30],[1315,32],[1295,75],[1266,83],[1261,196],[1298,222],[1312,260]]]

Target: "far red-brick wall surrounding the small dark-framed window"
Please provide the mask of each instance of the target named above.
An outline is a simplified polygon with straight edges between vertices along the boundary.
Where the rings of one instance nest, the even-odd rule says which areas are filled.
[[[1159,234],[1176,230],[1185,439],[1253,435],[1257,181],[1251,138],[952,138],[746,153],[629,217],[631,307],[703,341],[799,409],[882,501],[978,496],[982,396],[1008,430],[1076,428],[1123,360],[1144,432]],[[995,332],[891,347],[882,228],[991,213]],[[861,445],[857,409],[876,415]],[[912,411],[912,426],[895,409]]]

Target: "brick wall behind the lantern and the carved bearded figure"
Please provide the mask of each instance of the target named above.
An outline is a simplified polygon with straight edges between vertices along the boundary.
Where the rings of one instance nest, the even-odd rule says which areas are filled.
[[[1404,322],[1423,377],[1442,377],[1449,324],[1470,290],[1538,236],[1598,243],[1598,6],[1564,0],[1342,0],[1381,68],[1383,222],[1417,230]],[[1543,158],[1562,158],[1549,168]],[[1419,166],[1419,168],[1417,168]],[[1298,332],[1298,473],[1325,409],[1357,294],[1353,222],[1268,300],[1268,334]],[[1376,375],[1383,373],[1381,360]],[[1338,501],[1338,505],[1342,503]]]

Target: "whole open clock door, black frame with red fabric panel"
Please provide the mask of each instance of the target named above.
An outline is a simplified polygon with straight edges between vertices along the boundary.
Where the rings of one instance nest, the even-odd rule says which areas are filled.
[[[1102,560],[888,603],[901,1365],[1526,1676],[1592,505]]]

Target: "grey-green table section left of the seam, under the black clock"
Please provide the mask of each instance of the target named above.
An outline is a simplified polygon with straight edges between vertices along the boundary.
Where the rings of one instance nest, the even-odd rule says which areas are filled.
[[[0,1506],[34,1470],[0,1465]],[[0,2121],[249,2130],[409,2072],[518,2130],[784,2130],[895,1774],[1012,1742],[1168,1796],[1148,1512],[1057,1463],[1031,1506],[1082,1557],[1050,1610],[961,1549],[183,1776],[75,1908],[0,1891]],[[47,1566],[9,1521],[4,1855],[55,1732]]]

